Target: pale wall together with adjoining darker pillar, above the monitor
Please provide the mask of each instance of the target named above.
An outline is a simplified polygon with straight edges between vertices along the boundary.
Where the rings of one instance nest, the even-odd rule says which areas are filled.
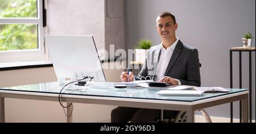
[[[97,49],[125,48],[123,0],[47,1],[47,33],[93,35]],[[108,55],[100,58],[107,59]]]

